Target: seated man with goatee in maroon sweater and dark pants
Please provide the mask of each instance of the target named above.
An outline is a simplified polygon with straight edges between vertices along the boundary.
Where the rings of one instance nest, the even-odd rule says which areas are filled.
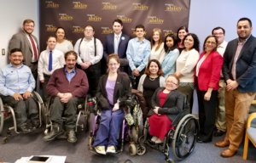
[[[65,53],[66,66],[55,70],[49,78],[46,88],[49,95],[55,98],[49,112],[53,127],[49,135],[44,137],[45,141],[53,140],[64,132],[61,124],[62,115],[67,119],[65,121],[67,141],[70,143],[77,141],[74,132],[77,104],[79,99],[86,96],[89,88],[86,74],[75,67],[77,59],[78,54],[74,51]]]

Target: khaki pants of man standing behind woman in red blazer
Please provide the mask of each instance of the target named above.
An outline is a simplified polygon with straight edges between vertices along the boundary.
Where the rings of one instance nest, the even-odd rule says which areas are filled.
[[[225,89],[226,83],[224,80],[218,82],[218,106],[217,106],[217,116],[215,126],[218,130],[225,132],[226,131],[226,116],[225,116]]]

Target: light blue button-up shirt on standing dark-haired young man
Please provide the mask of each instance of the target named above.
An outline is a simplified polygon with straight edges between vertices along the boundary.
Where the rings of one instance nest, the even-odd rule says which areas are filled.
[[[147,39],[139,41],[138,38],[132,38],[127,47],[126,57],[129,60],[131,70],[142,71],[148,65],[150,55],[150,42]]]

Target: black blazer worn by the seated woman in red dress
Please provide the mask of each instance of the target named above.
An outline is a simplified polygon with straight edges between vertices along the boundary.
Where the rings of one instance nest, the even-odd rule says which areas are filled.
[[[154,113],[153,110],[155,106],[160,107],[159,94],[164,89],[165,87],[159,87],[155,90],[154,95],[151,98],[153,108],[149,111],[149,115]],[[162,108],[158,110],[158,113],[161,115],[167,115],[170,120],[173,121],[177,114],[183,111],[184,100],[185,96],[183,95],[183,93],[180,93],[179,91],[177,91],[177,89],[172,90],[171,93],[167,95],[165,104]]]

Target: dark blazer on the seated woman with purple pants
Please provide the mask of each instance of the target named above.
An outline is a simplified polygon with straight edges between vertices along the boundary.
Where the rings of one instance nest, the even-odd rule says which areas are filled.
[[[111,110],[111,106],[108,103],[108,94],[106,91],[106,83],[108,80],[108,75],[103,75],[100,78],[99,86],[96,91],[96,98],[98,100],[98,104],[102,110]],[[125,73],[120,72],[117,76],[117,80],[114,86],[113,91],[113,104],[119,101],[123,101],[127,99],[131,95],[131,82],[129,76]]]

